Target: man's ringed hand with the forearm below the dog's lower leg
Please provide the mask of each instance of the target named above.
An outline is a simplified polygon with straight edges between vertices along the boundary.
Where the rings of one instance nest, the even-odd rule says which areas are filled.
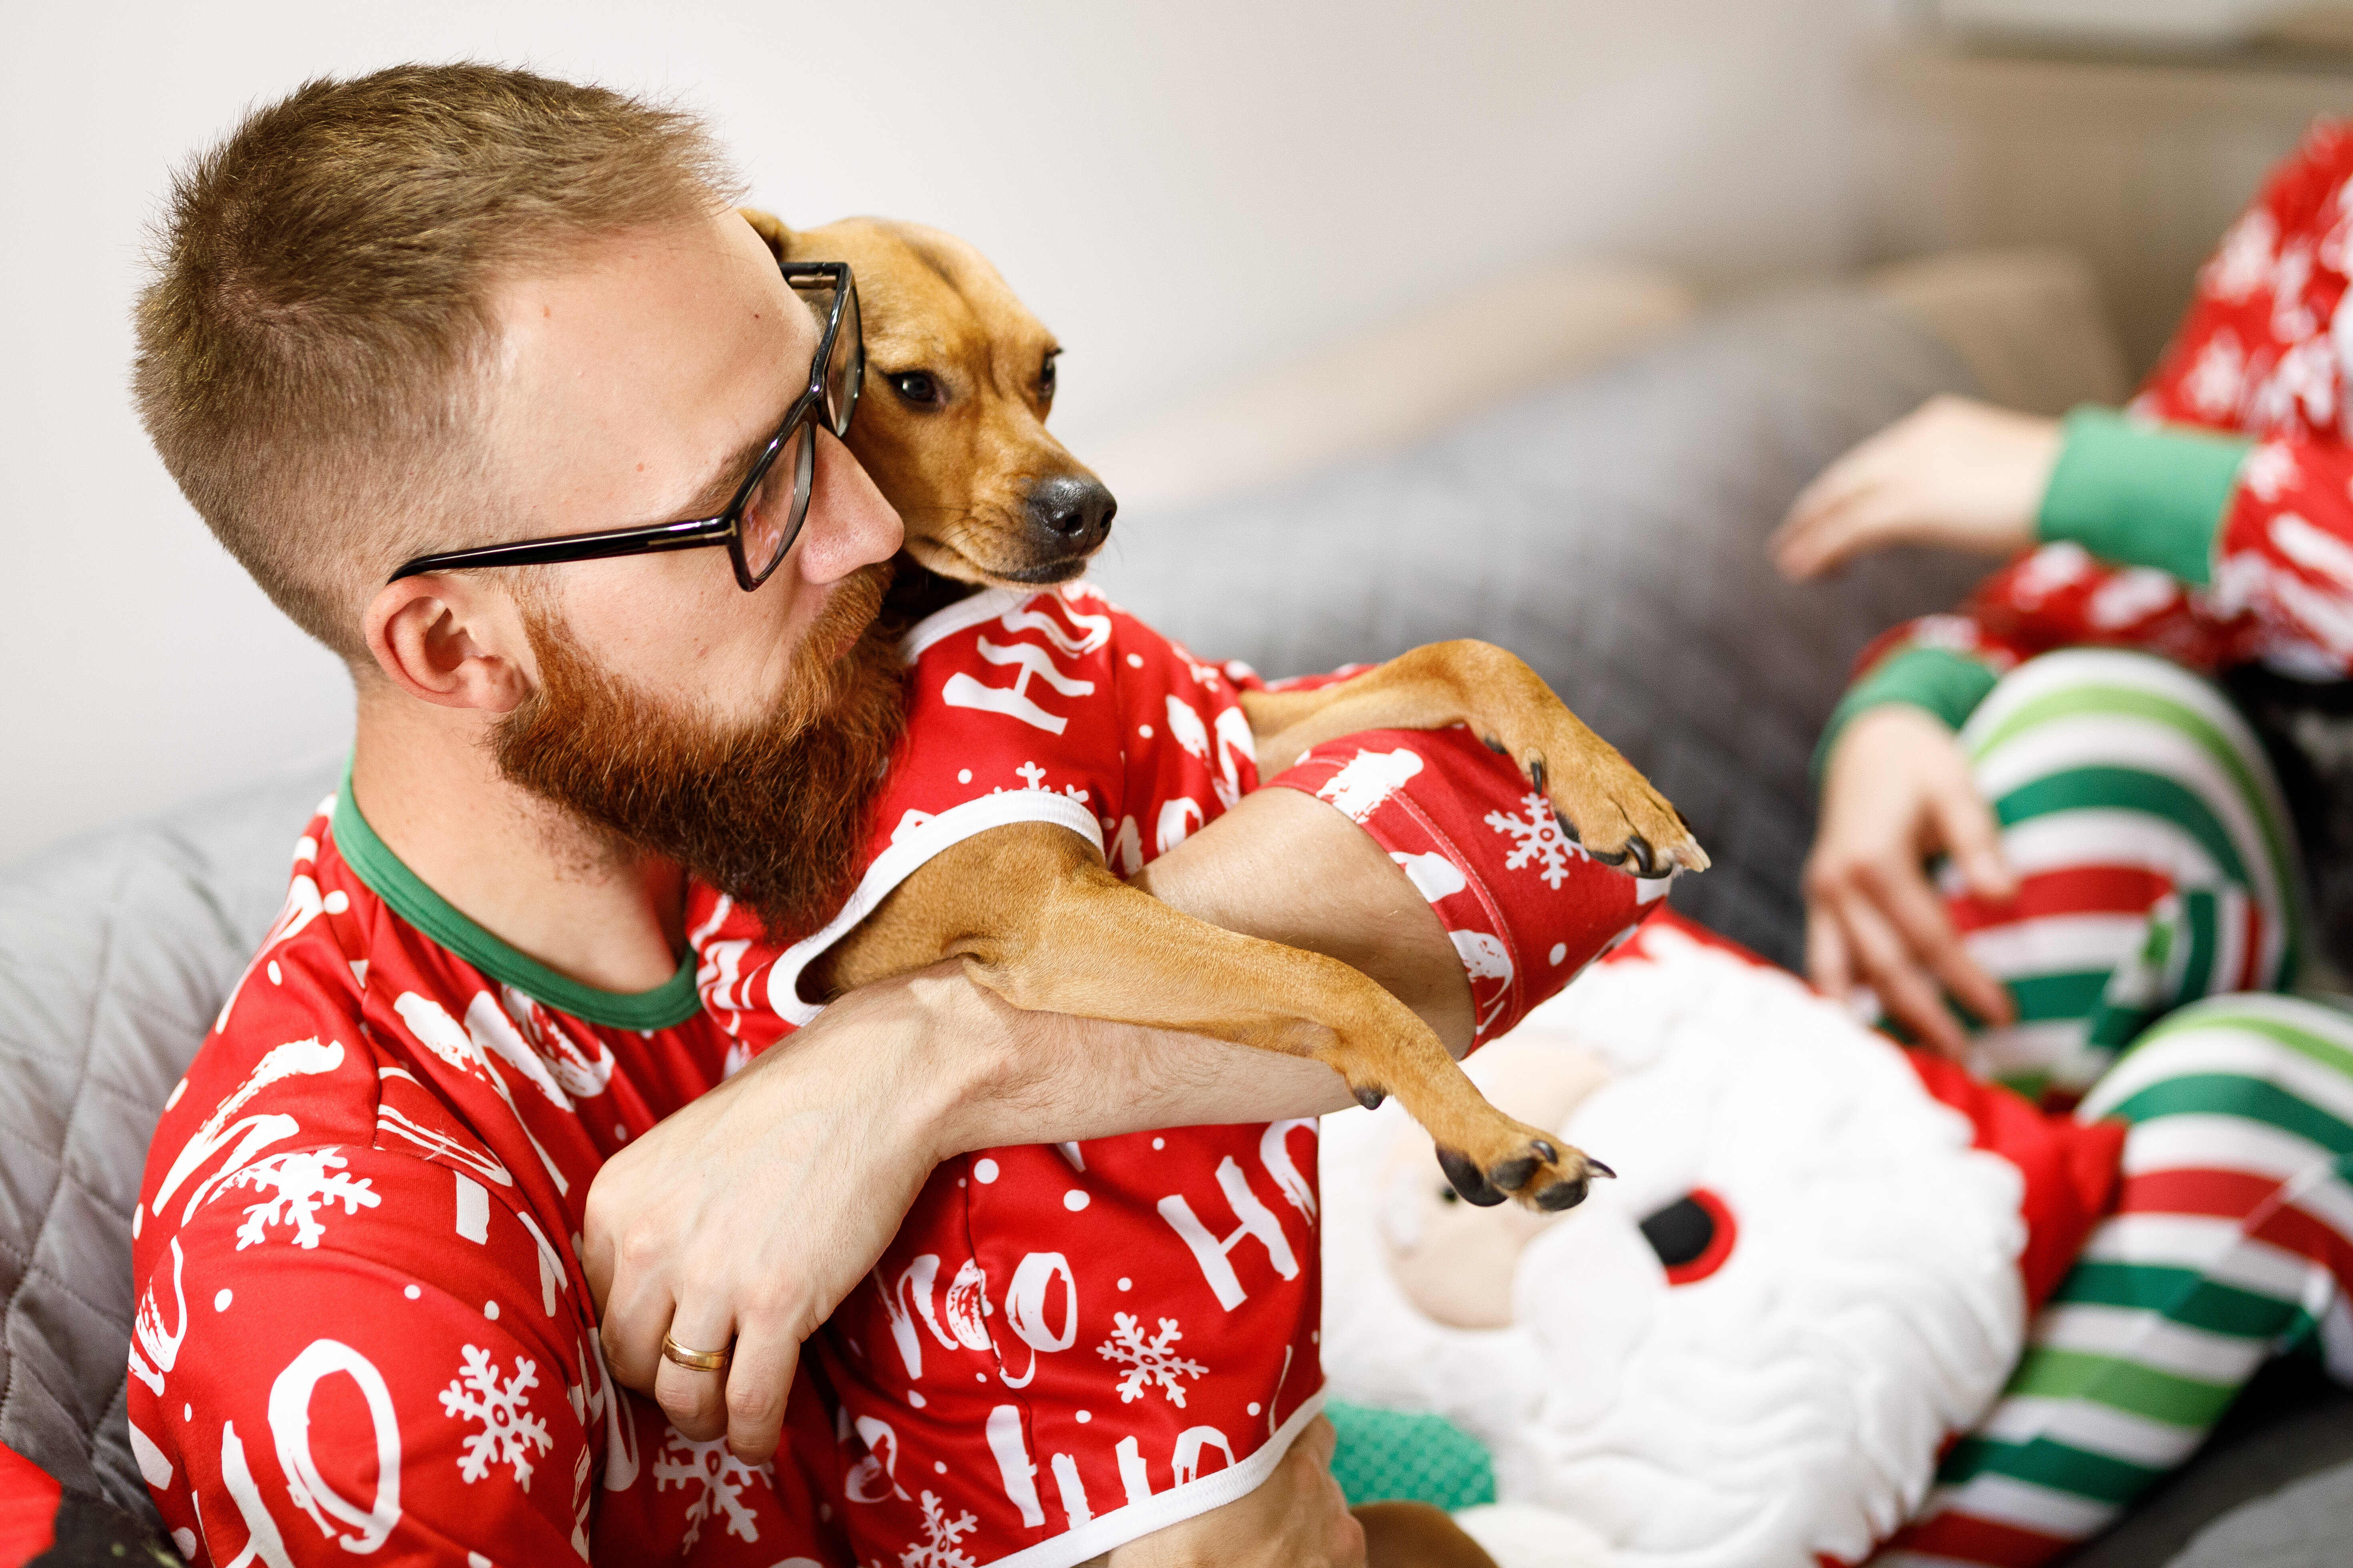
[[[953,961],[868,985],[598,1171],[581,1267],[605,1359],[689,1439],[725,1432],[758,1465],[776,1450],[800,1342],[875,1265],[941,1159],[1344,1105],[1348,1086],[1322,1063],[1024,1013]],[[678,1366],[664,1333],[685,1349],[732,1342],[734,1359]]]

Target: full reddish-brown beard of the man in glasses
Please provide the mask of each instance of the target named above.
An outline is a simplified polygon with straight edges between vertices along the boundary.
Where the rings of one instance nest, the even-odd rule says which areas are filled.
[[[772,938],[807,936],[854,886],[868,802],[906,726],[899,646],[873,625],[887,585],[889,567],[845,578],[776,705],[744,724],[633,691],[527,607],[539,689],[492,736],[499,771],[734,896]]]

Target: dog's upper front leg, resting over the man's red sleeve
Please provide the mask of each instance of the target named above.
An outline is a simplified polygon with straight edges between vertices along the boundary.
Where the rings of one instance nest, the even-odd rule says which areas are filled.
[[[1367,729],[1468,724],[1553,802],[1562,832],[1612,865],[1645,877],[1706,870],[1682,813],[1553,696],[1534,670],[1492,642],[1433,642],[1386,665],[1313,691],[1245,691],[1259,743],[1259,778],[1311,748]]]

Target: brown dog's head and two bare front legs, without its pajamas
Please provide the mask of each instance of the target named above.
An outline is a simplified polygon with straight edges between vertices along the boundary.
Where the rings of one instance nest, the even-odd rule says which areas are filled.
[[[1059,346],[998,270],[913,223],[788,230],[746,219],[779,256],[847,261],[861,280],[868,390],[847,440],[906,520],[906,555],[934,576],[934,602],[1080,576],[1115,508],[1045,428]],[[1631,858],[1645,875],[1708,863],[1675,809],[1497,646],[1440,642],[1337,686],[1242,693],[1242,708],[1261,776],[1337,736],[1461,722],[1511,755],[1598,858]],[[1567,1208],[1595,1173],[1579,1150],[1487,1105],[1445,1044],[1358,971],[1179,914],[1061,827],[995,827],[929,860],[833,947],[814,983],[838,994],[944,957],[962,957],[1021,1009],[1313,1056],[1365,1105],[1398,1095],[1473,1204]],[[1151,985],[1136,985],[1139,964]]]

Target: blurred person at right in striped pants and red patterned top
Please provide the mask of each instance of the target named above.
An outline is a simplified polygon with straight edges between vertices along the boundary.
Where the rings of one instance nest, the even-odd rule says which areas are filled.
[[[2207,675],[2353,677],[2353,127],[2318,122],[2125,414],[1937,400],[1833,463],[1793,578],[2007,555],[1864,651],[1819,752],[1807,969],[2129,1126],[2120,1197],[1882,1563],[2064,1556],[2273,1356],[2353,1382],[2353,1011],[2297,825]],[[2306,994],[2292,994],[2297,990]]]

